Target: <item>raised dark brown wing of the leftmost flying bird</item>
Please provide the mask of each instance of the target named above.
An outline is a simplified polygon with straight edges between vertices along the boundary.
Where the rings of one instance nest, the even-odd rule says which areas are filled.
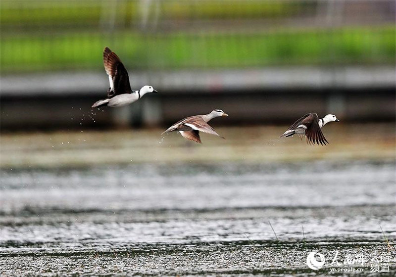
[[[116,53],[112,52],[108,47],[104,48],[103,51],[103,65],[109,76],[110,83],[107,97],[132,92],[127,70]]]

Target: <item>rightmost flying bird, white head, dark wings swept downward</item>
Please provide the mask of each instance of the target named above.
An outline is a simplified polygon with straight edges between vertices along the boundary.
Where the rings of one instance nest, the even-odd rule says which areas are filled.
[[[327,141],[320,128],[333,121],[339,122],[340,120],[334,114],[319,118],[317,113],[307,113],[290,126],[280,138],[297,134],[298,136],[306,136],[307,143],[326,145],[326,142],[329,143],[329,141]]]

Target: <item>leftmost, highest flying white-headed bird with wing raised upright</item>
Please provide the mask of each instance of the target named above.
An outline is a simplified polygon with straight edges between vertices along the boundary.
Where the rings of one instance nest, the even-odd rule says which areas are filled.
[[[132,90],[127,70],[116,53],[108,47],[105,47],[103,51],[103,64],[110,87],[107,90],[107,98],[96,101],[92,108],[101,106],[122,107],[139,100],[146,93],[157,92],[151,86],[143,86],[139,91]]]

